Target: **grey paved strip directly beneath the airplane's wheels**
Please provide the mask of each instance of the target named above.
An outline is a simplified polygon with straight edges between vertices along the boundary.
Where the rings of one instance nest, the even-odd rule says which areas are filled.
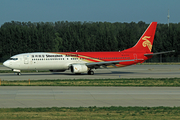
[[[0,66],[0,70],[6,69]],[[97,69],[94,75],[75,75],[69,70],[61,73],[38,72],[0,73],[1,80],[50,80],[50,79],[116,79],[116,78],[180,78],[180,65],[132,65],[124,68]]]

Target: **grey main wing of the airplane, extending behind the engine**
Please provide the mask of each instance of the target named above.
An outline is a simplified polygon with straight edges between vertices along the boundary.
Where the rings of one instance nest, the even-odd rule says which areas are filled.
[[[107,61],[107,62],[92,62],[92,63],[86,63],[86,66],[89,68],[98,68],[100,66],[106,67],[109,65],[112,65],[116,67],[116,64],[119,64],[121,62],[130,62],[130,61],[135,61],[135,59],[132,60],[118,60],[118,61]]]

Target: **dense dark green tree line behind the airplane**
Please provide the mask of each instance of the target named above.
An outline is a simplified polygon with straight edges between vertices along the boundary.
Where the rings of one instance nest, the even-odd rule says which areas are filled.
[[[28,52],[122,51],[136,44],[149,24],[110,22],[6,22],[0,27],[0,62]],[[180,23],[158,24],[153,52],[174,58],[180,51]]]

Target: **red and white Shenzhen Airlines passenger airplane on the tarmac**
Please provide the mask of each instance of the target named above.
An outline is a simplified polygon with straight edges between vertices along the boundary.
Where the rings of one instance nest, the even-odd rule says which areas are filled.
[[[138,42],[123,51],[22,53],[10,57],[3,65],[12,69],[17,75],[21,75],[21,70],[49,70],[51,72],[70,70],[74,74],[87,72],[93,75],[94,70],[98,68],[118,68],[143,63],[153,55],[174,52],[151,52],[156,26],[157,22],[152,22]]]

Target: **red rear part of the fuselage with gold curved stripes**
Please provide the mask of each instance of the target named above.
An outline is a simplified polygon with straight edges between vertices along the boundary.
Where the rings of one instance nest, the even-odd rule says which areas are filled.
[[[137,59],[137,61],[123,62],[119,66],[127,66],[144,62],[149,59],[144,56],[144,53],[132,53],[132,52],[53,52],[55,54],[69,55],[70,57],[83,58],[87,62],[104,62],[104,61],[117,61],[117,60],[131,60]]]

